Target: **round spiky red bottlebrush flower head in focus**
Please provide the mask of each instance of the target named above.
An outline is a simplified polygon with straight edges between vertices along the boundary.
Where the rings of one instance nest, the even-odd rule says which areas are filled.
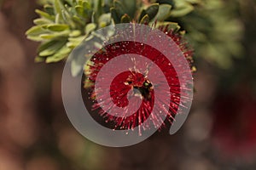
[[[179,33],[169,30],[167,27],[163,26],[159,29],[168,37],[172,38],[179,48],[178,50],[166,48],[166,50],[171,50],[173,53],[182,51],[183,56],[185,56],[189,65],[191,65],[192,52],[187,48],[183,37]],[[96,89],[95,83],[104,65],[107,65],[109,61],[124,54],[130,55],[130,58],[128,57],[130,60],[128,59],[126,62],[133,65],[131,70],[123,71],[116,77],[112,77],[113,75],[111,74],[105,74],[104,78],[106,80],[112,80],[110,87],[108,87],[108,83],[106,82],[106,84],[102,84],[100,89]],[[153,61],[154,65],[160,68],[170,88],[163,88],[162,83],[164,82],[161,81],[163,77],[154,77],[154,80],[159,82],[158,84],[154,84],[148,78],[148,75],[158,71],[156,67],[153,67],[143,59],[134,57],[132,54],[141,55]],[[125,62],[122,64],[128,65]],[[141,132],[141,127],[143,130],[146,130],[149,127],[149,123],[153,123],[154,127],[160,127],[162,122],[165,121],[162,120],[163,115],[166,115],[167,122],[172,122],[174,116],[177,114],[178,107],[183,106],[183,104],[180,103],[181,88],[185,87],[180,86],[179,77],[177,77],[177,72],[172,63],[158,49],[146,43],[133,41],[110,43],[94,54],[88,65],[89,71],[85,71],[85,74],[90,82],[93,82],[91,86],[89,86],[91,89],[90,98],[94,103],[92,109],[102,116],[105,122],[113,124],[113,129],[133,129],[140,127]],[[85,84],[85,86],[88,88],[88,85]],[[108,88],[110,89],[110,97],[103,93],[103,91]],[[157,99],[155,99],[154,94],[156,90],[160,96]],[[168,103],[162,100],[166,98],[167,94],[171,94],[168,97],[171,102]],[[131,100],[129,100],[131,96],[133,96],[132,103]],[[186,95],[184,94],[183,97],[186,97]],[[188,98],[187,100],[190,101],[191,99]],[[130,105],[131,108],[137,108],[137,110],[131,113],[132,109],[127,109],[115,116],[108,113],[108,111],[112,110],[113,105],[120,108]],[[166,109],[165,106],[167,106],[168,109]],[[152,112],[153,109],[157,111]],[[146,122],[150,115],[150,121]],[[165,125],[165,123],[163,123],[163,125]]]

